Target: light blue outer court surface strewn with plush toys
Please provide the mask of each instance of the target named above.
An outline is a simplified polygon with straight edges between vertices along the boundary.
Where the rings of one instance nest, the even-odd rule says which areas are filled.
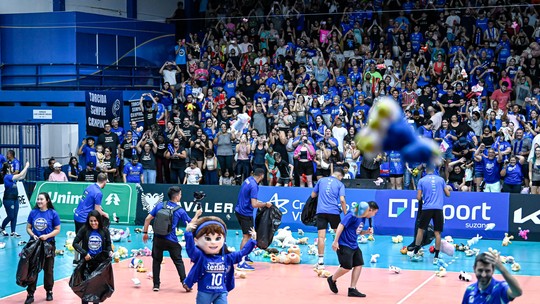
[[[126,229],[128,226],[113,226],[113,228]],[[140,226],[139,226],[140,227]],[[151,242],[144,244],[142,242],[142,234],[134,233],[134,228],[136,226],[129,226],[131,231],[131,237],[128,240],[122,240],[119,242],[114,242],[116,248],[118,246],[123,246],[128,249],[128,252],[131,249],[139,249],[148,246],[151,249]],[[62,232],[56,238],[57,249],[65,249],[64,244],[66,240],[66,232],[73,231],[74,225],[71,223],[62,223]],[[24,289],[15,284],[15,274],[17,270],[17,263],[19,261],[19,252],[22,249],[22,246],[19,246],[18,243],[21,240],[28,240],[24,225],[19,225],[17,227],[17,232],[19,232],[24,237],[16,239],[9,237],[0,237],[0,242],[5,242],[6,247],[0,249],[0,270],[3,275],[0,276],[0,302],[9,302],[9,300],[2,300],[9,295],[21,292]],[[401,233],[405,233],[402,231]],[[315,238],[317,237],[315,233],[306,233],[306,237],[309,238],[309,244],[313,244]],[[443,234],[444,236],[444,234]],[[293,231],[293,237],[298,238],[298,233]],[[331,235],[327,235],[329,238],[326,243],[326,254],[325,254],[325,264],[326,265],[338,265],[336,254],[331,249]],[[516,238],[519,238],[516,235]],[[237,231],[229,231],[227,236],[227,245],[229,247],[235,247],[239,249],[239,244],[242,239],[241,234],[237,234]],[[424,271],[435,271],[437,266],[432,264],[433,255],[427,252],[429,246],[426,246],[426,255],[424,259],[420,262],[411,262],[406,255],[400,253],[400,249],[403,246],[408,245],[412,241],[412,237],[405,237],[403,243],[394,244],[391,241],[391,236],[381,236],[375,235],[375,240],[370,241],[366,244],[360,244],[360,248],[364,254],[365,267],[366,268],[388,268],[389,266],[397,266],[403,270],[424,270]],[[454,239],[455,243],[466,243],[465,239]],[[302,254],[301,254],[301,263],[302,264],[312,264],[314,265],[317,262],[316,255],[308,255],[308,246],[299,245]],[[540,273],[540,243],[528,242],[524,240],[514,239],[512,243],[507,246],[502,246],[502,240],[480,240],[480,242],[473,248],[478,248],[480,251],[487,251],[488,248],[497,249],[504,256],[513,256],[515,261],[521,265],[521,270],[519,272],[512,272],[515,275],[520,276],[535,276]],[[277,248],[278,250],[285,250],[276,246],[271,246],[271,248]],[[370,258],[372,254],[379,254],[377,263],[370,263]],[[183,250],[182,256],[187,257],[185,250]],[[466,257],[463,252],[458,252],[454,254],[453,257],[446,256],[441,253],[441,257],[449,264],[447,270],[449,272],[459,272],[466,271],[471,272],[473,268],[474,256]],[[251,254],[252,260],[255,262],[270,262],[269,258],[263,258],[262,256],[255,256]],[[73,253],[65,250],[63,256],[57,256],[55,260],[54,274],[55,279],[63,279],[71,276],[73,271],[72,266]],[[510,269],[510,264],[506,264]],[[39,276],[38,285],[43,284],[42,274]]]

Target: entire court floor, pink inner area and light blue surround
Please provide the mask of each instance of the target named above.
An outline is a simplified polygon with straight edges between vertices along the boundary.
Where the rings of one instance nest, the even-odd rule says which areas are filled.
[[[125,226],[117,228],[125,229]],[[135,227],[130,227],[132,231],[128,240],[115,242],[114,245],[124,246],[131,249],[144,248],[142,235],[133,233]],[[18,227],[18,232],[26,235],[23,225]],[[62,224],[62,233],[57,237],[57,249],[61,249],[65,243],[67,231],[73,230],[73,225]],[[296,231],[294,237],[298,237]],[[306,233],[309,242],[313,243],[316,235]],[[15,284],[15,273],[18,263],[18,253],[22,246],[18,246],[21,240],[28,238],[11,239],[0,237],[0,242],[6,242],[6,248],[0,249],[0,303],[23,303],[26,292],[22,287]],[[227,244],[238,249],[241,235],[236,231],[229,231]],[[301,264],[281,265],[272,264],[268,258],[251,255],[255,261],[256,271],[249,272],[246,279],[237,279],[236,288],[229,295],[230,303],[253,303],[254,301],[263,303],[350,303],[351,301],[362,301],[363,303],[459,303],[463,292],[469,282],[460,281],[458,274],[460,271],[471,272],[474,257],[466,257],[463,252],[456,252],[453,257],[441,254],[442,258],[449,264],[448,274],[445,277],[435,276],[436,266],[432,264],[432,255],[426,253],[421,262],[411,262],[406,255],[400,253],[400,249],[411,242],[411,237],[405,237],[403,243],[393,244],[390,236],[375,236],[375,241],[367,244],[360,244],[364,254],[366,265],[360,276],[357,288],[367,294],[364,299],[351,299],[346,296],[350,276],[346,275],[338,281],[340,289],[334,295],[328,289],[326,280],[318,278],[313,272],[313,264],[316,263],[315,255],[308,255],[307,245],[300,245],[302,250]],[[454,242],[461,243],[466,240],[455,239]],[[325,264],[327,269],[333,272],[337,269],[337,258],[327,242]],[[151,248],[151,243],[147,246]],[[273,246],[275,247],[275,246]],[[507,247],[502,247],[501,240],[481,240],[475,248],[481,251],[489,247],[501,251],[505,256],[513,256],[519,264],[521,270],[512,272],[515,274],[523,288],[524,295],[514,303],[537,303],[540,291],[536,288],[540,284],[540,244],[527,241],[513,241]],[[427,249],[427,247],[426,247]],[[372,254],[379,254],[377,263],[370,263]],[[183,257],[187,255],[183,251]],[[151,257],[142,258],[146,268],[151,268]],[[57,256],[55,260],[54,303],[78,303],[79,298],[73,294],[68,286],[69,277],[73,271],[73,254],[66,250],[63,256]],[[189,260],[184,259],[186,270],[191,267]],[[164,259],[162,265],[161,290],[152,292],[152,280],[146,274],[137,274],[141,280],[141,285],[135,286],[131,278],[134,273],[128,267],[129,258],[114,265],[116,291],[108,299],[107,303],[160,303],[162,301],[178,300],[179,303],[194,303],[196,291],[186,293],[179,284],[179,278],[172,261]],[[400,274],[392,273],[388,267],[397,266],[401,268]],[[506,265],[510,268],[510,265]],[[497,275],[500,278],[500,275]],[[473,281],[475,279],[473,278]],[[42,285],[42,276],[38,282]],[[46,303],[45,292],[42,287],[38,287],[35,303]]]

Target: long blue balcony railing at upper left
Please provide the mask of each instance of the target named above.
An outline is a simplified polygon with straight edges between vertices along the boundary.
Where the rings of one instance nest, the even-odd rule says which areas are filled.
[[[156,66],[2,64],[2,90],[141,90],[159,87]]]

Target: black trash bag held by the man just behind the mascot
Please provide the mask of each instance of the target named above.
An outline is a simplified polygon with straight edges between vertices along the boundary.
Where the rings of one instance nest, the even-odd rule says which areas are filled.
[[[266,249],[274,239],[274,233],[281,225],[281,211],[278,207],[259,208],[255,218],[255,227],[257,232],[257,247]]]

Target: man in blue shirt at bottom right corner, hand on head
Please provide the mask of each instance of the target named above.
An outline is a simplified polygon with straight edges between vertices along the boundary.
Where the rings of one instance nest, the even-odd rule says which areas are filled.
[[[498,254],[480,253],[473,269],[478,282],[467,287],[462,304],[509,303],[523,294],[518,280],[502,264]],[[495,270],[502,274],[504,281],[493,278]]]

